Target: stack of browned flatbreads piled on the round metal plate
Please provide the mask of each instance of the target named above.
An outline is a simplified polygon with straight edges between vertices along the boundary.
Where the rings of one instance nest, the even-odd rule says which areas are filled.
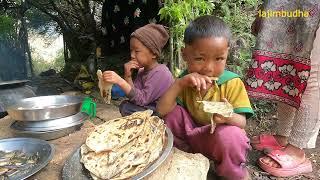
[[[80,151],[93,179],[127,179],[160,156],[165,125],[152,113],[136,112],[95,128]]]

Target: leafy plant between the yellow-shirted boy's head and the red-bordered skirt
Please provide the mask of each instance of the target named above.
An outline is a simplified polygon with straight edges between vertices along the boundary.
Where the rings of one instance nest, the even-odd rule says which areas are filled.
[[[255,45],[251,24],[260,3],[259,0],[215,1],[214,15],[221,17],[231,27],[233,33],[227,68],[242,77],[245,76]]]

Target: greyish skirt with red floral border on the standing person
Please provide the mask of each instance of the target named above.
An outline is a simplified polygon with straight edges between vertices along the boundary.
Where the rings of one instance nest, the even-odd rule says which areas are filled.
[[[264,11],[294,11],[308,17],[257,17],[256,47],[246,77],[248,94],[298,108],[310,74],[310,54],[320,21],[318,0],[265,1]]]

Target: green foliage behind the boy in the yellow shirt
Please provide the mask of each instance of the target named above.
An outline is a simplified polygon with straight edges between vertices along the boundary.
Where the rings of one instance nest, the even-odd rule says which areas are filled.
[[[170,47],[166,57],[173,59],[170,64],[177,77],[184,68],[180,57],[183,46],[183,32],[187,24],[197,16],[212,14],[222,18],[233,33],[232,45],[227,61],[227,69],[245,77],[255,46],[251,25],[255,19],[261,0],[168,0],[159,14],[170,27]],[[268,101],[252,101],[255,119],[267,118],[275,110],[275,104]],[[261,121],[263,122],[263,121]]]

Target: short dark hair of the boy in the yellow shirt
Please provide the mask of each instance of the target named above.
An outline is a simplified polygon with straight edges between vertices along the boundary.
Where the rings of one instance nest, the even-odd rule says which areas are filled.
[[[187,26],[184,31],[184,43],[192,44],[195,39],[208,37],[224,37],[230,45],[231,30],[220,18],[212,15],[200,16]]]

